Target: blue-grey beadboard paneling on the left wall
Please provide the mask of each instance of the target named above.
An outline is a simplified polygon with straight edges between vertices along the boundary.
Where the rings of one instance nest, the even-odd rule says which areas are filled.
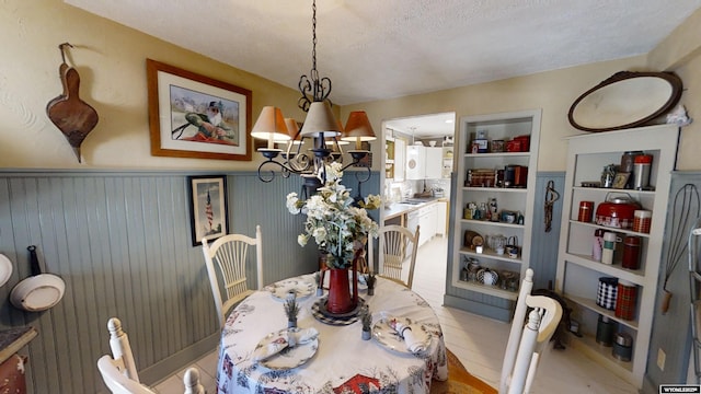
[[[0,288],[0,329],[32,325],[39,333],[21,351],[30,359],[30,393],[106,392],[96,360],[110,352],[111,316],[123,321],[147,383],[216,347],[216,311],[202,250],[192,245],[186,185],[188,175],[210,174],[0,172],[0,253],[14,263]],[[261,224],[264,281],[317,269],[315,248],[297,244],[303,216],[285,208],[286,195],[300,190],[299,177],[226,176],[230,232],[253,236]],[[353,188],[355,177],[346,177]],[[374,173],[363,192],[378,189]],[[64,299],[48,311],[24,312],[9,301],[30,275],[28,245],[37,246],[44,271],[66,281]]]

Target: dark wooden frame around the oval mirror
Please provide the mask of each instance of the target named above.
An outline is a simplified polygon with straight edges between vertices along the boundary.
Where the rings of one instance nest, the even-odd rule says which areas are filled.
[[[614,83],[618,83],[618,82],[621,82],[621,81],[629,81],[630,79],[634,79],[634,78],[659,78],[659,79],[666,81],[667,83],[669,83],[669,85],[671,88],[670,89],[671,92],[669,94],[668,100],[659,108],[655,109],[651,114],[644,115],[640,119],[636,119],[634,121],[629,121],[629,123],[625,123],[625,124],[621,124],[621,125],[613,125],[613,126],[605,127],[605,128],[591,128],[591,127],[583,126],[583,125],[579,124],[579,121],[577,121],[577,119],[574,118],[574,112],[575,112],[577,105],[581,104],[582,101],[585,100],[588,95],[593,94],[594,92],[596,92],[598,90],[601,90],[601,89],[605,89],[605,88],[610,88]],[[650,120],[656,118],[657,116],[664,114],[665,112],[667,112],[671,107],[674,107],[677,104],[677,102],[679,102],[679,99],[681,99],[681,91],[682,91],[681,79],[679,79],[679,77],[677,77],[676,74],[674,74],[671,72],[619,71],[619,72],[614,73],[613,76],[609,77],[608,79],[601,81],[596,86],[589,89],[588,91],[583,93],[577,100],[575,100],[575,102],[570,107],[570,112],[567,113],[567,118],[570,119],[570,124],[572,126],[574,126],[575,128],[577,128],[579,130],[585,130],[585,131],[598,132],[598,131],[620,130],[620,129],[624,129],[624,128],[636,127],[636,126],[643,125],[646,121],[650,121]],[[583,120],[583,119],[579,119],[579,120]]]

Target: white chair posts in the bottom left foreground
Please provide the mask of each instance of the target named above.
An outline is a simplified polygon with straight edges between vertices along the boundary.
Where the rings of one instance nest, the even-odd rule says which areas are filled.
[[[97,360],[97,369],[107,389],[113,394],[157,394],[139,382],[129,338],[122,329],[122,322],[116,317],[110,318],[107,329],[112,356],[104,355]],[[188,368],[183,381],[185,394],[205,393],[205,389],[199,384],[199,371],[196,368]]]

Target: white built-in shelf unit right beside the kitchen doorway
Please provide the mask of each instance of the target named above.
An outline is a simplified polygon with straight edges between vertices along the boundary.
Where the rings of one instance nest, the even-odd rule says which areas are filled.
[[[452,276],[451,283],[460,289],[470,290],[472,292],[492,296],[505,300],[516,300],[517,292],[501,289],[497,286],[484,286],[483,283],[462,281],[460,274],[466,262],[478,259],[480,266],[490,268],[499,273],[513,273],[522,278],[528,268],[528,258],[530,256],[530,239],[535,217],[535,185],[538,173],[538,148],[540,136],[540,116],[541,111],[522,111],[516,113],[466,116],[460,118],[460,132],[456,141],[456,184],[458,192],[456,193],[456,217],[453,218],[453,228],[450,229],[453,237],[452,250],[450,251],[452,269],[449,273]],[[489,152],[472,153],[472,143],[478,139],[478,135],[485,135],[489,142]],[[481,137],[480,137],[481,138]],[[518,146],[518,152],[508,151],[491,151],[492,141],[501,140],[505,142],[514,141],[512,147]],[[529,144],[520,144],[521,141],[529,140]],[[520,146],[519,146],[520,144]],[[476,144],[475,144],[476,147]],[[497,148],[499,149],[499,148]],[[512,148],[513,150],[513,148]],[[469,170],[486,170],[480,171],[479,176],[484,182],[472,182],[469,179]],[[491,177],[491,173],[494,177]],[[499,175],[499,172],[504,176]],[[471,172],[470,176],[478,176]],[[481,187],[476,184],[485,185],[508,185],[509,187]],[[518,187],[517,187],[518,186]],[[472,215],[466,215],[468,206],[486,204],[496,204],[496,212],[502,218],[503,211],[518,212],[522,216],[524,224],[507,221],[491,220],[473,220]],[[482,253],[476,253],[473,245],[466,245],[466,233],[475,232],[484,239]],[[518,246],[518,257],[509,257],[508,252],[497,254],[490,248],[487,237],[491,235],[503,235],[509,242]],[[516,240],[516,242],[512,241]],[[520,280],[519,280],[520,281]],[[475,297],[470,293],[466,297],[468,300],[475,302],[464,303],[471,312],[491,315],[487,311],[495,308],[493,304],[504,304],[503,302],[483,303],[484,297]],[[478,303],[482,303],[478,305]],[[508,303],[507,303],[508,304]],[[484,306],[483,306],[484,305]],[[473,309],[470,309],[473,308]],[[504,306],[497,306],[502,310],[498,313],[499,318],[510,317],[513,311]],[[506,310],[506,311],[504,311]],[[509,318],[506,317],[506,318]]]

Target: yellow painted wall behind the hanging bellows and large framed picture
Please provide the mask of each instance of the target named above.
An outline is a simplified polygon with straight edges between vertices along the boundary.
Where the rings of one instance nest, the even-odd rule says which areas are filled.
[[[0,167],[256,169],[255,154],[252,162],[151,157],[147,58],[251,90],[252,123],[264,105],[302,119],[294,90],[60,0],[3,1],[0,36],[5,54],[0,59]],[[46,104],[62,92],[58,45],[65,42],[74,46],[67,61],[80,74],[80,97],[100,116],[83,141],[83,164],[46,115]]]

